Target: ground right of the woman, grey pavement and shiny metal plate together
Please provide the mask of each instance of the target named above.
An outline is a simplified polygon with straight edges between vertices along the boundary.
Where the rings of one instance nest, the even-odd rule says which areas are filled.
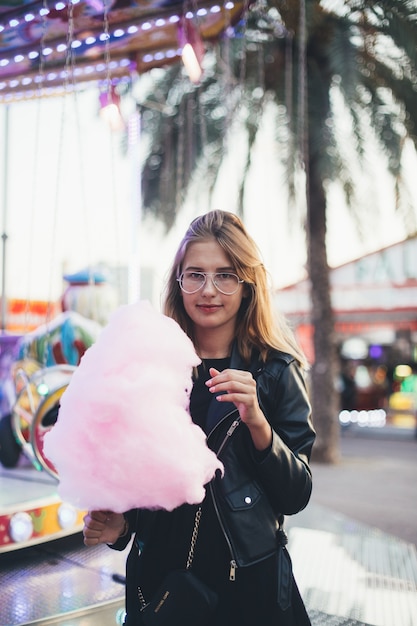
[[[337,465],[312,464],[307,509],[287,518],[313,626],[417,625],[417,440],[344,430]]]

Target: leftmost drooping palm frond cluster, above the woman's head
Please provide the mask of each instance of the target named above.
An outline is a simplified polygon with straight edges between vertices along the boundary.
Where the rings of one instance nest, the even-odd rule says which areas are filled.
[[[181,68],[172,68],[155,85],[154,94],[161,91],[164,107],[148,112],[143,120],[151,146],[142,171],[142,201],[144,212],[156,215],[169,230],[206,146],[221,142],[227,109],[214,72],[195,86],[184,80]],[[212,176],[215,162],[221,160],[211,159]]]

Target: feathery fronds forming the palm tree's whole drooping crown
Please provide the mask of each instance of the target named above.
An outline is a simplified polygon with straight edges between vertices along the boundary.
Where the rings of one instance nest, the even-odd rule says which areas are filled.
[[[158,106],[165,103],[167,110],[153,111],[149,119],[144,115],[144,132],[152,137],[143,172],[144,211],[161,217],[167,228],[174,223],[197,168],[212,193],[227,154],[228,133],[238,119],[248,148],[239,182],[243,202],[251,148],[271,95],[278,105],[278,153],[290,198],[295,196],[302,128],[300,9],[298,2],[288,0],[270,0],[269,6],[284,36],[249,41],[242,22],[235,38],[213,46],[213,62],[200,86],[184,79],[178,66],[155,84],[149,99]],[[343,96],[358,157],[366,155],[369,125],[388,156],[391,173],[400,181],[404,137],[411,137],[417,146],[416,2],[347,0],[337,13],[310,1],[307,36],[308,158],[315,160],[322,180],[341,182],[352,203],[354,176],[343,146],[338,145],[331,93],[337,89]]]

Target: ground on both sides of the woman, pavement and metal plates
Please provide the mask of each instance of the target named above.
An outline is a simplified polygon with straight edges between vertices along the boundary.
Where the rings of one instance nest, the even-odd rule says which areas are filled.
[[[311,502],[286,520],[312,626],[417,626],[414,433],[350,428],[340,449],[312,465]],[[121,624],[126,553],[73,537],[2,556],[0,626]]]

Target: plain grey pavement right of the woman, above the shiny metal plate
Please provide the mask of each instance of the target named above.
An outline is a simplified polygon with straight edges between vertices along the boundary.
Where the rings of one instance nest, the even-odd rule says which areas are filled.
[[[340,450],[337,465],[313,464],[311,502],[417,546],[417,439],[413,431],[346,429]]]

